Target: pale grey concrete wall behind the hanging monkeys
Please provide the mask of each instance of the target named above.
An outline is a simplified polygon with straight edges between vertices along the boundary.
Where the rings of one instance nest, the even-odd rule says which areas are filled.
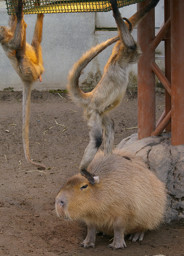
[[[136,4],[120,9],[125,17],[130,17],[136,12]],[[160,0],[156,7],[156,30],[163,22],[163,0]],[[36,15],[25,15],[26,40],[32,41]],[[0,1],[0,26],[7,26],[8,14],[6,12],[5,1]],[[102,31],[103,28],[116,27],[112,11],[108,13],[58,13],[45,14],[43,21],[43,61],[45,73],[42,75],[42,83],[36,83],[34,89],[64,89],[67,84],[68,71],[82,53],[93,45],[101,43],[112,36],[117,35],[117,31]],[[135,40],[137,29],[132,32]],[[95,86],[99,81],[103,67],[106,64],[112,47],[108,47],[100,53],[85,68],[81,75],[80,84],[82,87]],[[163,43],[158,47],[159,54],[164,54]],[[137,65],[132,67],[132,77],[136,78]],[[130,79],[131,80],[131,79]],[[134,81],[134,79],[132,80]],[[11,67],[10,61],[0,47],[0,90],[13,87],[14,90],[22,90],[21,80]]]

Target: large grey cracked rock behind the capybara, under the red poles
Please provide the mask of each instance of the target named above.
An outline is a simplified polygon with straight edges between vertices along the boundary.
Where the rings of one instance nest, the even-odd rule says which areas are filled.
[[[123,139],[117,146],[141,156],[167,186],[165,222],[184,219],[184,144],[171,145],[171,135],[161,134],[138,140],[138,134]]]

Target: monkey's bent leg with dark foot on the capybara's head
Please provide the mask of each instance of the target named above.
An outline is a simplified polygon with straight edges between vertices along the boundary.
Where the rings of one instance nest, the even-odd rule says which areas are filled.
[[[79,171],[83,176],[85,176],[92,185],[95,184],[93,174],[87,171],[89,164],[92,162],[99,146],[102,144],[102,118],[98,113],[93,113],[89,118],[89,144],[84,151],[84,156],[82,158],[81,164],[79,166]]]

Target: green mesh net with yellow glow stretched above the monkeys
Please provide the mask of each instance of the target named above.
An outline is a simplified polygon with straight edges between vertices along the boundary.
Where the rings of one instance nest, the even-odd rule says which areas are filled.
[[[127,6],[142,2],[144,0],[118,0],[118,7]],[[15,14],[15,6],[18,0],[6,0],[8,15]],[[24,14],[35,13],[76,13],[76,12],[94,12],[94,11],[110,11],[111,5],[109,1],[97,0],[25,0]]]

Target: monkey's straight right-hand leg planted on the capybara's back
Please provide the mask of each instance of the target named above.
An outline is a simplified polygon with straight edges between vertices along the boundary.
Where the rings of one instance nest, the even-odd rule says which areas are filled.
[[[114,147],[114,121],[109,114],[103,115],[103,143],[104,155],[110,154]]]

